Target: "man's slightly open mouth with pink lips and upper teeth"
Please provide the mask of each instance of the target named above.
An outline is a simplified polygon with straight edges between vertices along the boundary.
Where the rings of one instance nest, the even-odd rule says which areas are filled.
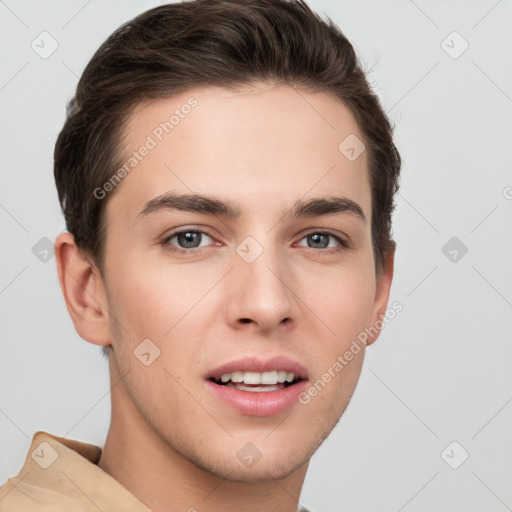
[[[307,371],[286,358],[246,358],[205,376],[208,390],[223,404],[246,416],[273,416],[298,402],[307,386]]]

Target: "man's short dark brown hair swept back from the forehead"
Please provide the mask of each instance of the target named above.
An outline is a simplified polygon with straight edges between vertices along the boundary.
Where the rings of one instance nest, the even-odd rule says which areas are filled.
[[[254,81],[329,93],[350,109],[368,150],[376,273],[384,269],[395,246],[391,215],[401,160],[351,43],[302,0],[195,0],[156,7],[119,27],[68,103],[55,145],[55,182],[67,230],[100,272],[108,198],[93,191],[122,164],[122,130],[133,108],[196,87]]]

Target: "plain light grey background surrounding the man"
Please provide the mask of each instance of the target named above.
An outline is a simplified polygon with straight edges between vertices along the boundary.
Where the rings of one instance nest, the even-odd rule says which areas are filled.
[[[158,3],[0,1],[0,485],[37,430],[105,439],[107,362],[76,334],[55,258],[32,248],[64,229],[52,152],[79,74]],[[313,512],[512,510],[512,2],[310,5],[353,42],[397,126],[390,304],[404,309],[368,349],[302,501]],[[31,48],[43,31],[59,45],[47,59]],[[442,250],[452,237],[455,262]]]

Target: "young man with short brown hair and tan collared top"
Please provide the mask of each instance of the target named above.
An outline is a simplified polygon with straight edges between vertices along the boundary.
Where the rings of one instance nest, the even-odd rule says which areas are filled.
[[[351,44],[305,3],[118,29],[55,148],[59,280],[108,350],[111,425],[103,448],[36,433],[0,510],[302,510],[386,315],[399,171]]]

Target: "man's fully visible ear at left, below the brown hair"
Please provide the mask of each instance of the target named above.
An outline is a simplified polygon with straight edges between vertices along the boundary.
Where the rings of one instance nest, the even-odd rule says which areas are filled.
[[[97,267],[89,263],[71,233],[55,240],[60,287],[77,333],[95,345],[110,345],[105,285]]]

